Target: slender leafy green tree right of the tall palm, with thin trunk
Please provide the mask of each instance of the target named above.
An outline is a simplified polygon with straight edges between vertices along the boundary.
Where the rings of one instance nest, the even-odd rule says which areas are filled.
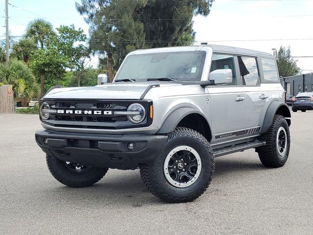
[[[85,72],[85,61],[90,54],[89,47],[83,44],[86,42],[87,36],[81,28],[75,29],[73,24],[61,25],[57,31],[59,35],[58,40],[55,41],[56,48],[70,59],[69,67],[75,69],[77,85],[80,86],[82,75]]]

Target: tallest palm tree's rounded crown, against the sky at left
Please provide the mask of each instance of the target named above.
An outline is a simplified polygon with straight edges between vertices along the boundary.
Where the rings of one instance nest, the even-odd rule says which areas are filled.
[[[25,30],[25,38],[34,39],[41,48],[44,48],[44,45],[49,46],[55,36],[52,24],[44,19],[30,21]]]

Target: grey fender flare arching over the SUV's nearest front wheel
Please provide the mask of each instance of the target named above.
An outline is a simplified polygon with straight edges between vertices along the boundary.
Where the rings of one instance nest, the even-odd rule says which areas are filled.
[[[192,109],[190,107],[181,107],[174,110],[162,123],[160,129],[158,130],[158,134],[167,134],[173,132],[174,129],[177,127],[179,122],[187,117],[190,114],[199,114],[201,115],[206,121],[207,119],[203,116],[203,114],[199,110]],[[209,124],[209,122],[207,121]],[[209,125],[210,127],[210,125]]]

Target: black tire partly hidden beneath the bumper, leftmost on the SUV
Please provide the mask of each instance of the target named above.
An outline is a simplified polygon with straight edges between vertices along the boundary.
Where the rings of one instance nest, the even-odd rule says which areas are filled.
[[[52,176],[60,183],[73,188],[83,188],[97,183],[107,173],[108,168],[92,167],[86,172],[74,172],[65,162],[53,155],[46,155],[46,163]]]

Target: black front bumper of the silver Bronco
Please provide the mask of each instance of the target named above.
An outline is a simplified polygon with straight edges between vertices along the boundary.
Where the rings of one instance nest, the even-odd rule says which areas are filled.
[[[40,130],[36,131],[35,139],[46,154],[65,162],[135,169],[138,164],[149,164],[157,158],[167,135],[99,135]],[[127,147],[130,143],[132,150]]]

